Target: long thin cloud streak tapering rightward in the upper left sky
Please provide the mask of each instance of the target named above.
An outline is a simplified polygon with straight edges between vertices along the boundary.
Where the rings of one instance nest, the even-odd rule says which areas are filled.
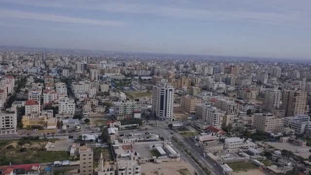
[[[66,22],[77,24],[101,25],[101,26],[124,26],[123,22],[113,20],[96,20],[86,18],[65,17],[52,14],[38,14],[16,10],[0,10],[0,18],[14,18],[14,19],[35,19],[42,21]]]

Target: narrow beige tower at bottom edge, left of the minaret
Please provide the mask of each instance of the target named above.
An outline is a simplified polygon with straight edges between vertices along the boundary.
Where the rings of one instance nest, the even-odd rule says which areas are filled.
[[[80,175],[93,175],[93,148],[80,147]]]

